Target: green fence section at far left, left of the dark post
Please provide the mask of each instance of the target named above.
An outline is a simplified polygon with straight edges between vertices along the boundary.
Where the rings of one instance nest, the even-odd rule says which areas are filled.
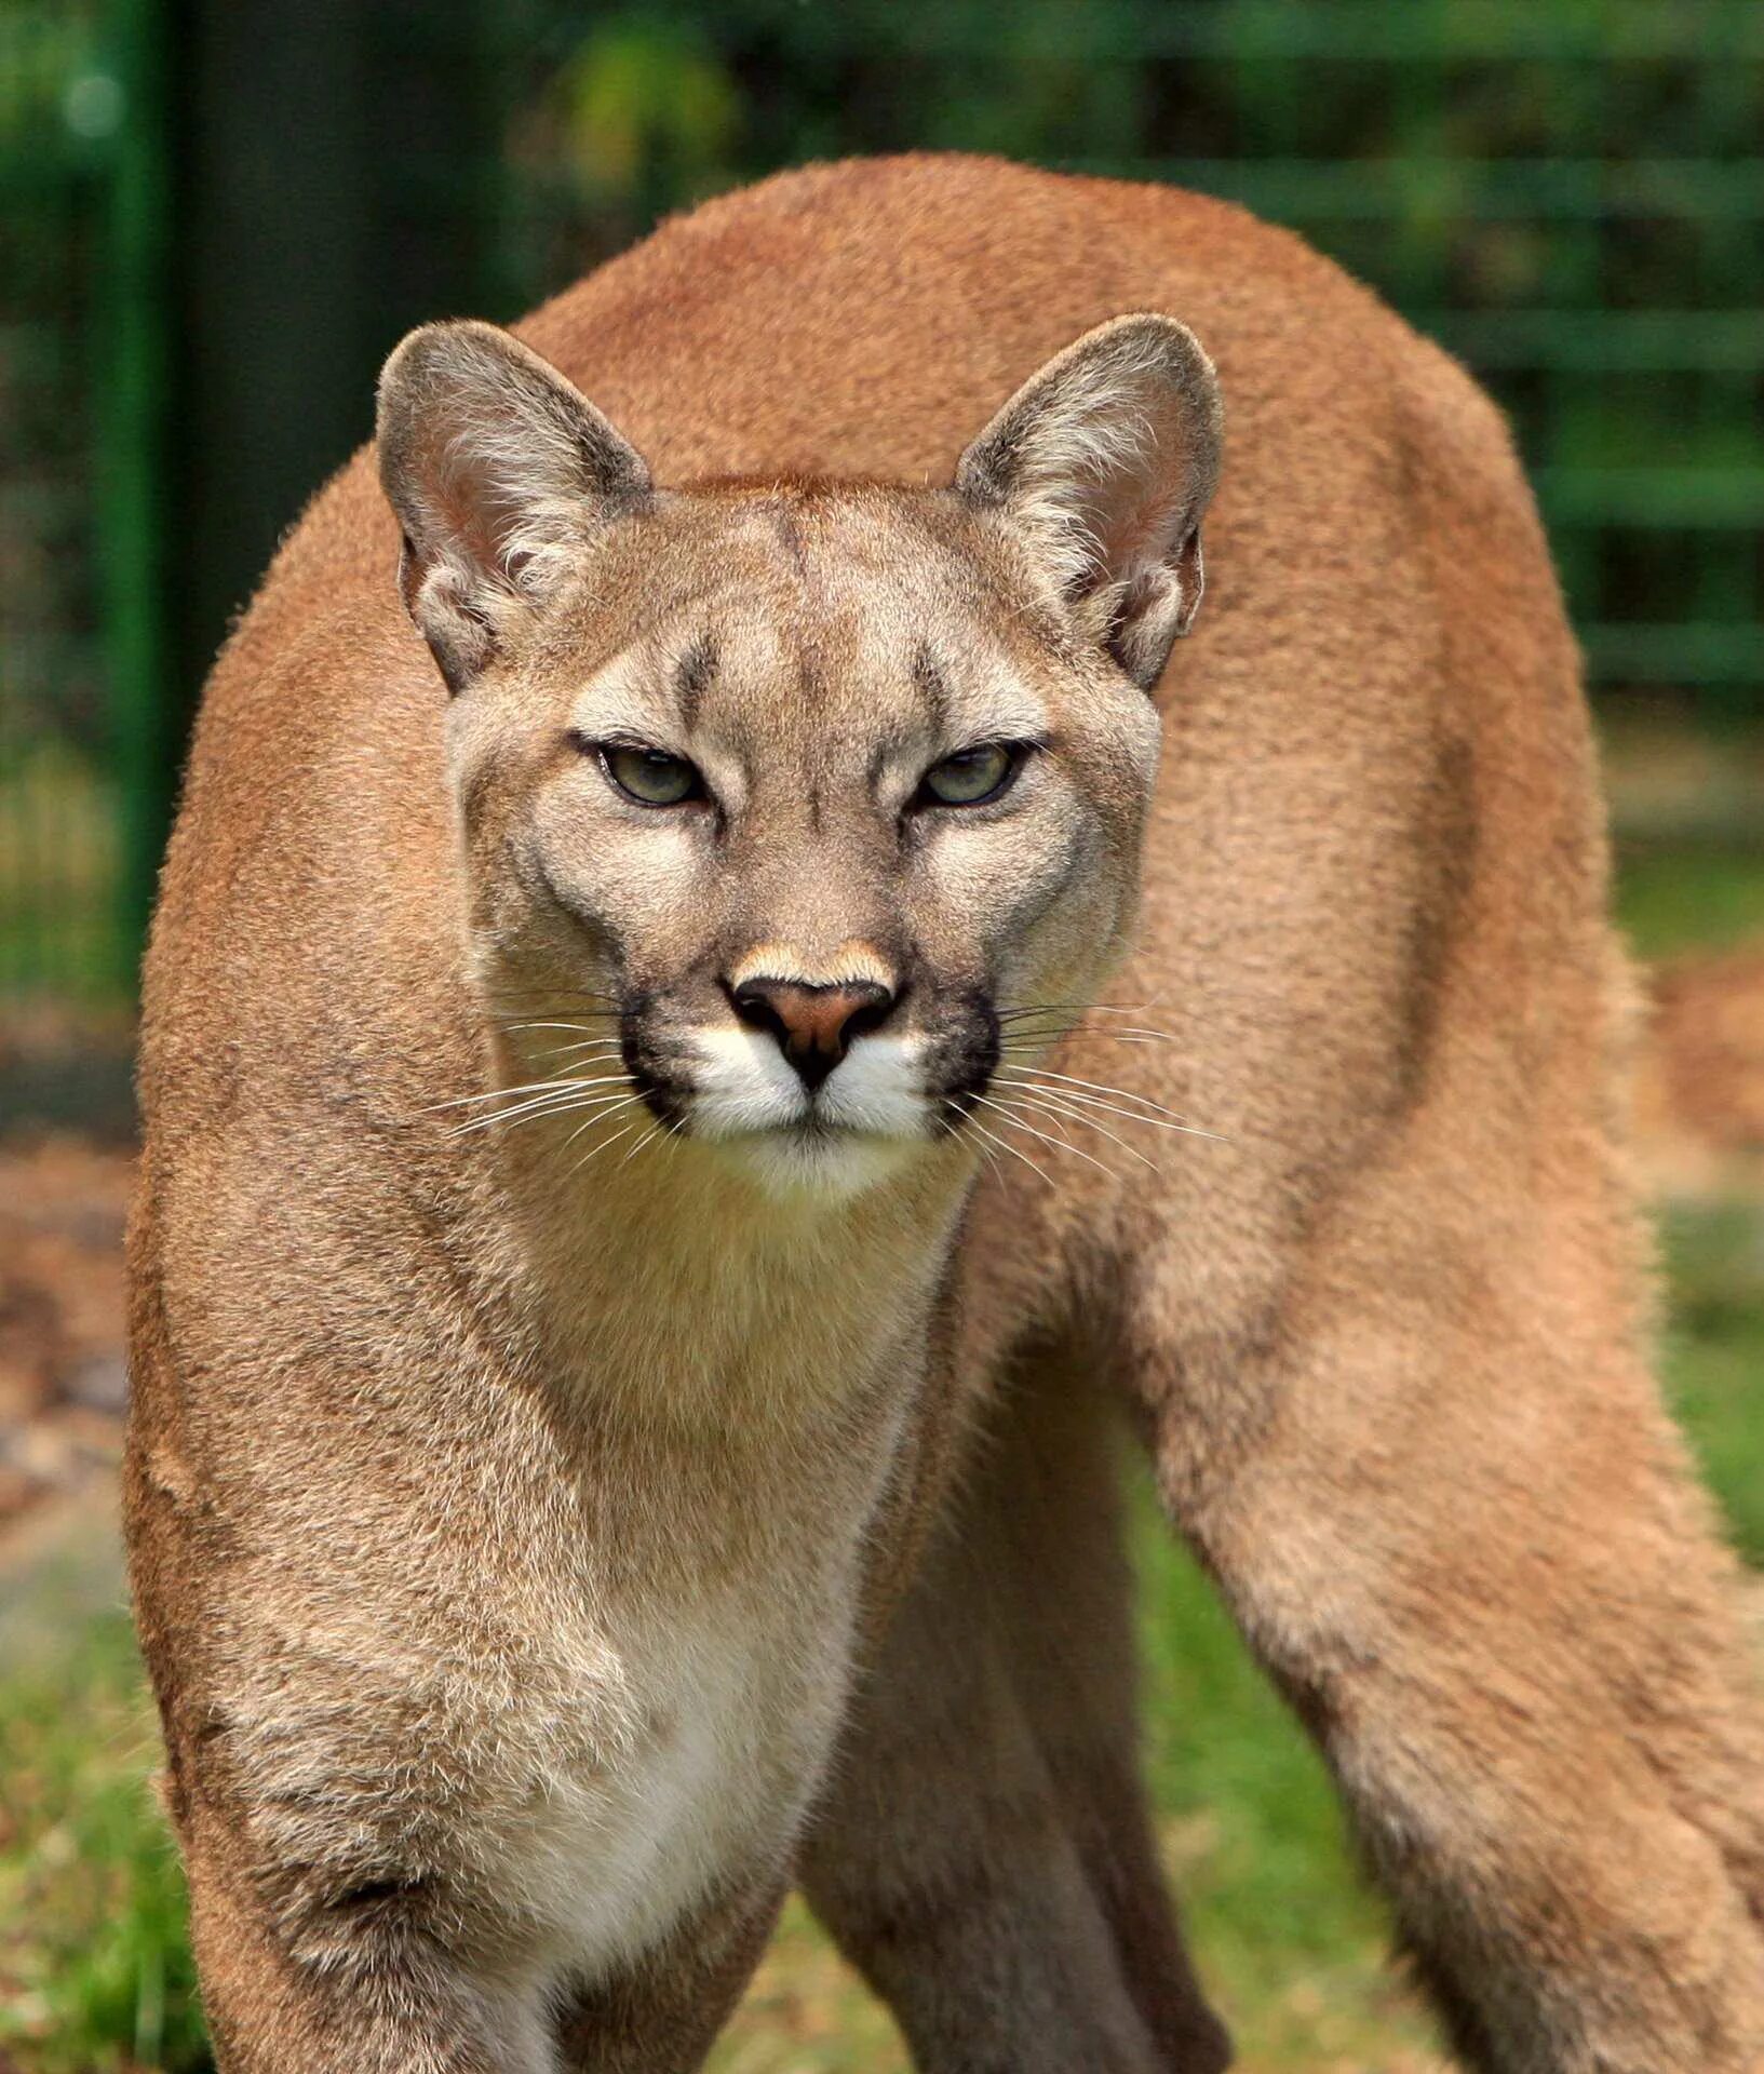
[[[133,983],[164,693],[164,50],[0,6],[0,993]]]

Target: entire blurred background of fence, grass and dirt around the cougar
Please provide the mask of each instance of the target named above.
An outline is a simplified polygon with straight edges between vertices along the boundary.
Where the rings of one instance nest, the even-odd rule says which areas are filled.
[[[207,662],[406,326],[904,147],[1240,199],[1505,404],[1652,973],[1669,1383],[1764,1558],[1756,0],[0,0],[0,2074],[205,2066],[110,1504],[133,985]],[[1246,2064],[1443,2066],[1314,1761],[1144,1541],[1146,1755]],[[721,2074],[902,2066],[792,1914]]]

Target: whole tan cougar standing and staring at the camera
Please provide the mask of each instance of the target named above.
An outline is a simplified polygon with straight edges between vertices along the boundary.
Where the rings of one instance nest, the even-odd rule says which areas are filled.
[[[1756,2074],[1604,908],[1499,415],[1233,207],[813,168],[404,340],[145,981],[220,2066],[694,2068],[800,1883],[933,2074],[1223,2068],[1119,1419],[1463,2064]]]

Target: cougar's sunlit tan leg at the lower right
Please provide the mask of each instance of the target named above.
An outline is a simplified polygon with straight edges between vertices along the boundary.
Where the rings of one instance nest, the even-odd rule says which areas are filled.
[[[1237,1346],[1142,1263],[1175,1518],[1322,1744],[1468,2066],[1758,2074],[1760,1717],[1679,1439],[1621,1327],[1588,1323],[1621,1294],[1565,1217],[1511,1271],[1414,1215],[1343,1226]]]

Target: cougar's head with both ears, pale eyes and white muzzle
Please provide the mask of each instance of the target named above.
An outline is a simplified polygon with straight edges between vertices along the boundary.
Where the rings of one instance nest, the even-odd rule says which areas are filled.
[[[412,332],[379,467],[502,1025],[771,1188],[983,1132],[1123,954],[1219,438],[1194,336],[1128,315],[947,487],[659,489],[510,334]]]

